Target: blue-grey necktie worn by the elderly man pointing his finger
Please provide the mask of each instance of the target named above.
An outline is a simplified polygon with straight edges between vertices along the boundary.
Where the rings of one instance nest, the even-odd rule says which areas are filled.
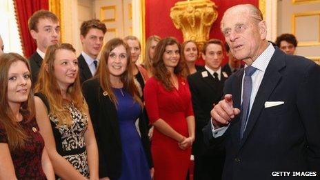
[[[252,66],[248,66],[247,68],[244,69],[240,139],[242,139],[243,133],[246,130],[246,123],[249,117],[248,112],[250,109],[250,97],[251,97],[251,91],[252,91],[251,75],[256,70],[257,68],[254,68]]]

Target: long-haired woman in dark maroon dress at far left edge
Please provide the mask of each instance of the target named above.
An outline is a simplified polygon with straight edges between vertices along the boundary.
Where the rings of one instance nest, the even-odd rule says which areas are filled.
[[[34,119],[28,61],[0,57],[0,179],[54,179],[52,164]]]

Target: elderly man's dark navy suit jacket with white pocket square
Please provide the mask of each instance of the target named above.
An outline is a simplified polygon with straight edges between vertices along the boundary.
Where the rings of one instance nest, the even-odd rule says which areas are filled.
[[[232,94],[233,106],[239,109],[242,77],[243,69],[229,77],[224,89],[225,94]],[[274,171],[317,171],[319,176],[319,92],[320,66],[276,48],[254,99],[243,139],[239,138],[240,116],[216,139],[210,124],[203,128],[207,143],[226,147],[223,179],[275,179],[271,176]],[[284,103],[265,108],[266,101]]]

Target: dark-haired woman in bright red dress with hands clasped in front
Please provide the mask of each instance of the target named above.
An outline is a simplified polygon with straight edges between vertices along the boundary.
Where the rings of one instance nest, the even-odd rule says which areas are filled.
[[[152,158],[154,179],[186,179],[194,141],[191,94],[180,61],[176,39],[162,39],[156,46],[153,71],[144,89],[146,109],[154,126]]]

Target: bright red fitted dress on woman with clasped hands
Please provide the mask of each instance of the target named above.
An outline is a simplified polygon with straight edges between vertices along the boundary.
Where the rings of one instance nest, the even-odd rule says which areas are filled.
[[[184,137],[189,137],[186,117],[193,116],[191,94],[186,79],[178,78],[179,88],[166,90],[160,81],[150,78],[144,88],[150,123],[163,119]],[[181,150],[178,142],[154,128],[152,144],[155,180],[184,180],[190,163],[191,148]]]

